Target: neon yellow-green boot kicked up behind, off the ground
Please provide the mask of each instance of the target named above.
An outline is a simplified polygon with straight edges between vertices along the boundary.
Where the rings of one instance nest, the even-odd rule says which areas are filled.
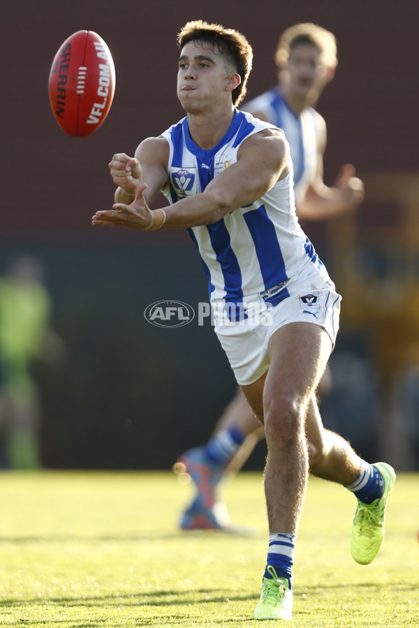
[[[395,470],[386,463],[372,465],[383,477],[384,491],[381,498],[371,504],[358,500],[358,508],[352,525],[351,554],[360,565],[369,565],[378,554],[384,540],[384,516],[388,496],[395,483]]]

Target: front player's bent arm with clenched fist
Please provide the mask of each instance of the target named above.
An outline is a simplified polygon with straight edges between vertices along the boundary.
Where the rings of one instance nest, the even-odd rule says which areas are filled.
[[[135,151],[134,157],[117,153],[108,164],[117,186],[115,202],[130,204],[140,184],[147,185],[144,196],[151,204],[168,180],[169,144],[163,137],[148,137]]]

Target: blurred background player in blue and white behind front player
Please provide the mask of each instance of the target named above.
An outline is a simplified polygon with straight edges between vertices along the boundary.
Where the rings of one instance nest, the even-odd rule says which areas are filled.
[[[316,24],[295,24],[282,33],[275,61],[279,84],[242,106],[254,117],[284,130],[294,166],[297,215],[307,220],[325,220],[354,211],[363,199],[362,181],[351,164],[341,167],[335,187],[323,183],[326,125],[314,110],[323,89],[337,68],[335,36]],[[327,370],[319,385],[328,389]],[[187,474],[196,485],[196,495],[186,507],[180,528],[228,530],[230,521],[219,488],[228,473],[247,460],[264,431],[238,389],[219,419],[214,435],[203,447],[186,451],[174,470]]]

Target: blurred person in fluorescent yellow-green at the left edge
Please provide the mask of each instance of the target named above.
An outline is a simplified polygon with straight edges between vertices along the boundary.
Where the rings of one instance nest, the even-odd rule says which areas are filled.
[[[17,257],[0,279],[0,442],[3,466],[41,467],[41,403],[32,368],[61,359],[64,345],[50,327],[51,299],[41,262]]]

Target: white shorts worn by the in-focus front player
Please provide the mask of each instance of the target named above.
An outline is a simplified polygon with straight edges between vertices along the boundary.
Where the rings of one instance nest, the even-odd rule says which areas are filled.
[[[226,316],[217,316],[217,311],[220,312],[225,304],[215,304],[215,332],[241,385],[256,382],[267,371],[270,338],[288,323],[319,325],[328,332],[332,345],[335,345],[341,296],[335,292],[335,285],[324,267],[319,269],[314,265],[308,276],[286,282],[284,290],[289,296],[272,307],[263,303],[260,294],[244,299],[247,317],[242,320],[230,321]]]

